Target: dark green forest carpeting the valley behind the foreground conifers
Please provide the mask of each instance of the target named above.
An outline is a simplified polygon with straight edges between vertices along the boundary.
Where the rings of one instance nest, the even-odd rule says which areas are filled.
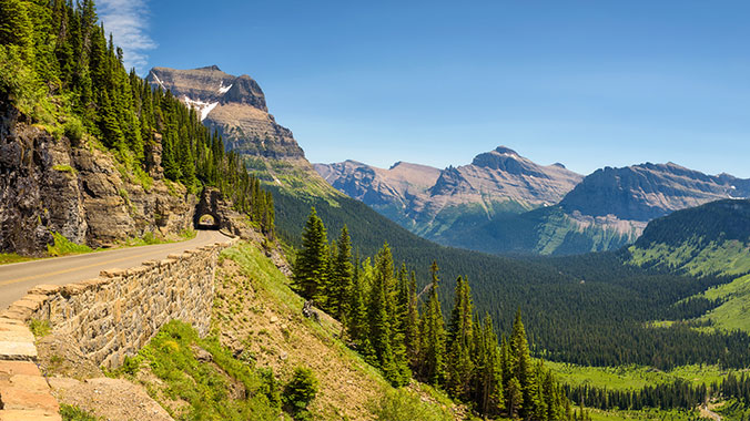
[[[638,363],[659,369],[750,364],[750,337],[744,332],[709,333],[682,322],[658,328],[651,324],[691,319],[719,306],[716,300],[689,297],[729,278],[695,278],[626,265],[624,251],[510,258],[442,247],[348,197],[332,206],[323,198],[301,199],[283,188],[268,188],[277,205],[280,235],[291,244],[301,246],[300,233],[314,205],[332,232],[348,227],[353,248],[363,255],[375,255],[387,240],[394,259],[416,270],[418,288],[428,284],[430,264],[437,260],[447,278],[468,278],[477,310],[491,316],[498,335],[513,325],[520,307],[533,356],[586,366]],[[440,285],[444,311],[453,306],[450,288]]]

